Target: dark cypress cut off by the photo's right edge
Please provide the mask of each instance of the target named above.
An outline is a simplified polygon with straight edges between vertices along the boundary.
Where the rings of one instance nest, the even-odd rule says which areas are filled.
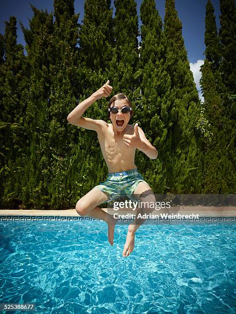
[[[229,166],[227,178],[230,192],[236,189],[235,139],[236,139],[236,7],[233,0],[220,0],[220,31],[222,61],[219,67],[220,78],[218,91],[225,110],[226,155]],[[225,153],[225,152],[224,152]],[[233,169],[233,171],[232,171]],[[233,179],[233,180],[232,180]],[[234,182],[234,183],[233,183]]]

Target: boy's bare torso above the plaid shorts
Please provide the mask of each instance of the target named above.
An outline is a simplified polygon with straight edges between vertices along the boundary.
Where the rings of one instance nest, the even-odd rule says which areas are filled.
[[[135,148],[128,147],[123,140],[124,134],[132,135],[134,127],[127,125],[125,131],[116,135],[113,126],[106,123],[100,132],[97,132],[103,157],[109,172],[127,171],[136,168],[134,164]]]

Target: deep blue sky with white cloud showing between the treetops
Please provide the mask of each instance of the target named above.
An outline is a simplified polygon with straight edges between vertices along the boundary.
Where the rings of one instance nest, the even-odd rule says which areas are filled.
[[[219,28],[219,16],[220,16],[220,4],[219,0],[211,0]],[[25,27],[29,25],[29,18],[32,17],[32,10],[30,3],[38,9],[47,9],[48,12],[53,11],[53,0],[8,0],[1,5],[0,12],[0,33],[4,34],[5,24],[4,22],[9,19],[9,16],[14,15],[17,18],[17,22],[21,21]],[[136,0],[137,12],[139,14],[139,8],[142,0]],[[155,0],[156,9],[158,9],[162,19],[165,15],[165,0]],[[204,59],[204,32],[205,32],[205,8],[207,0],[175,0],[175,8],[178,11],[179,18],[183,26],[183,37],[185,47],[188,52],[188,60],[190,62],[191,70],[194,74],[195,83],[199,89],[199,78],[201,73],[199,67],[203,63]],[[82,22],[84,15],[84,1],[74,1],[75,12],[80,13],[79,22]],[[112,0],[112,7],[113,0]],[[114,9],[113,9],[114,12]],[[140,22],[141,24],[141,22]],[[25,45],[24,36],[21,31],[21,27],[17,23],[17,42]]]

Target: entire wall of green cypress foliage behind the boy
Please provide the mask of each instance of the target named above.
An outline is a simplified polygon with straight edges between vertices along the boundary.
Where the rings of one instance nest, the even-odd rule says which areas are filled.
[[[67,122],[73,108],[108,79],[124,92],[159,157],[136,152],[135,163],[156,193],[235,192],[235,4],[220,0],[221,27],[206,6],[206,60],[200,104],[174,0],[163,22],[154,0],[85,0],[78,24],[73,0],[54,11],[31,6],[26,42],[17,44],[16,17],[0,34],[1,206],[60,209],[106,179],[94,131]],[[107,120],[101,99],[85,112]]]

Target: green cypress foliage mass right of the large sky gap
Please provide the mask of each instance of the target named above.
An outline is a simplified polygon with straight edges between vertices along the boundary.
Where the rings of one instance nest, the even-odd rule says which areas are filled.
[[[204,103],[201,109],[201,119],[198,128],[204,135],[204,159],[203,159],[203,192],[204,193],[234,193],[235,192],[235,121],[231,116],[233,111],[233,99],[230,99],[231,86],[228,74],[231,69],[231,78],[234,69],[231,68],[232,56],[226,54],[232,49],[228,32],[232,21],[229,23],[233,12],[226,10],[230,3],[221,2],[221,29],[217,33],[213,6],[208,0],[206,5],[206,60],[201,67],[201,86]],[[227,29],[226,23],[227,21]],[[227,36],[225,38],[225,36]],[[219,40],[220,37],[220,40]],[[231,38],[233,41],[234,39]],[[228,43],[227,43],[228,41]],[[221,49],[219,45],[221,44]],[[229,47],[229,46],[230,47]],[[235,47],[234,47],[235,49]],[[228,62],[226,62],[228,58]],[[230,65],[231,64],[231,65]]]

